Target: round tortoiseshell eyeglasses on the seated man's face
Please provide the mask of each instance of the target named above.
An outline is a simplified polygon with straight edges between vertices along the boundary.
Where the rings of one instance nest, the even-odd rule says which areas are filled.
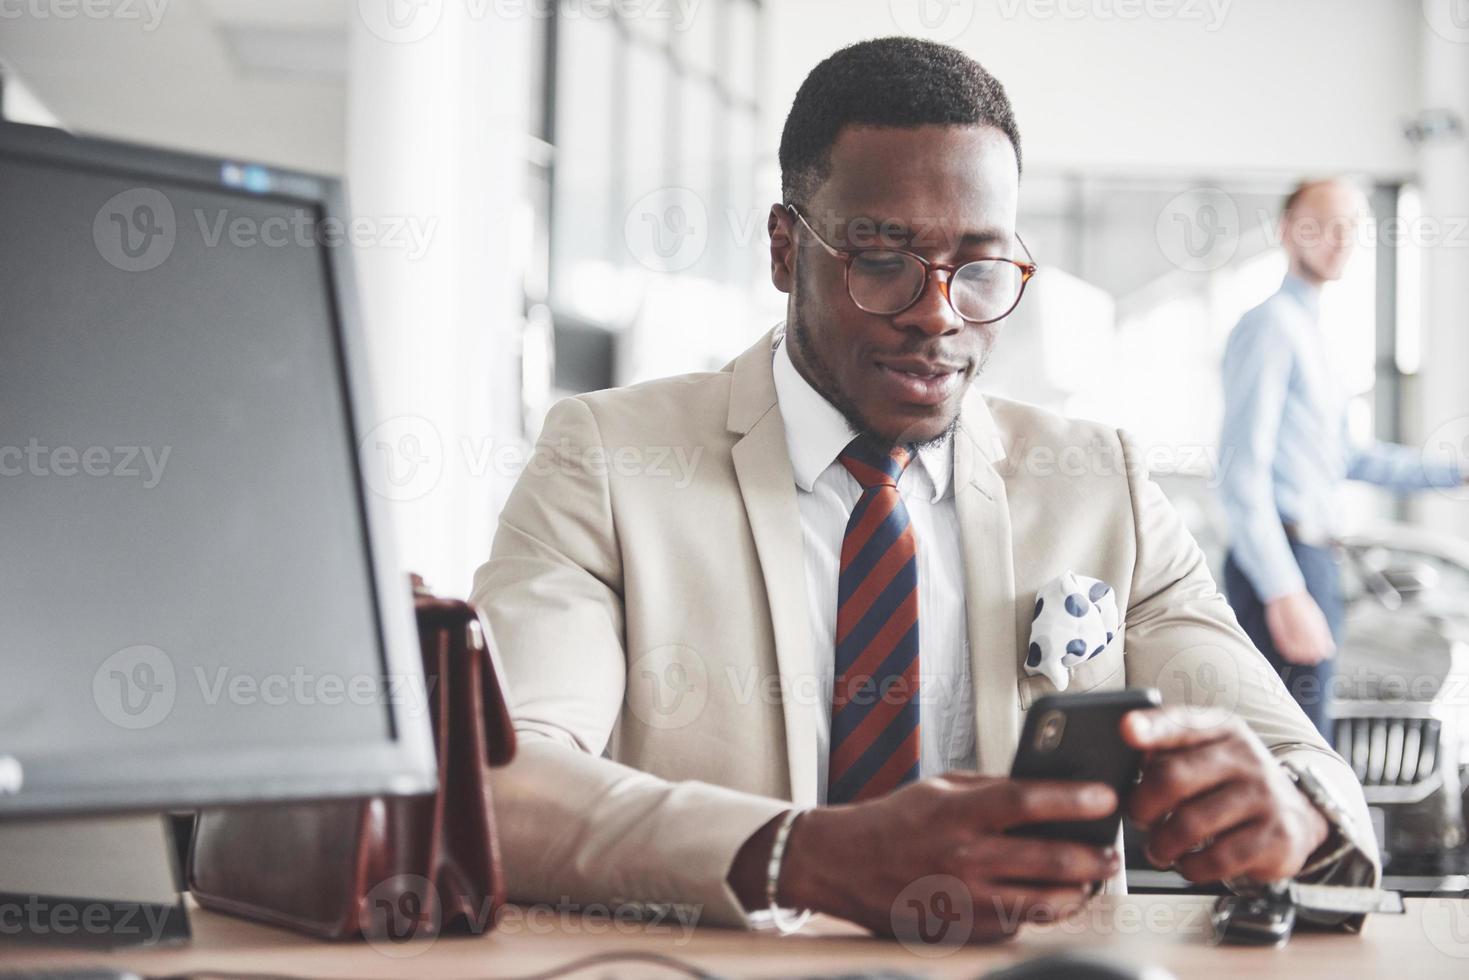
[[[906,248],[836,248],[823,238],[801,209],[786,204],[806,231],[831,257],[846,263],[846,292],[864,313],[893,316],[909,309],[923,295],[934,272],[948,272],[939,291],[961,317],[971,323],[993,323],[1019,306],[1025,284],[1036,275],[1034,262],[1014,259],[975,259],[961,266],[930,262]],[[1019,241],[1019,235],[1015,235]],[[1019,241],[1030,259],[1030,248]]]

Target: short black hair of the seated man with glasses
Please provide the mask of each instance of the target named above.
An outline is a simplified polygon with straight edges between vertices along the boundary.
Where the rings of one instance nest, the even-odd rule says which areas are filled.
[[[843,47],[811,69],[780,135],[780,190],[787,204],[809,198],[831,175],[843,126],[995,126],[1015,145],[1019,129],[1005,87],[948,44],[883,37]]]

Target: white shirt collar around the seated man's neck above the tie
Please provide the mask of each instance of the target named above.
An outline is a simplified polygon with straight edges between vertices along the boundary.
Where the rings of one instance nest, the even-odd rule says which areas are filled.
[[[790,453],[790,469],[796,486],[805,492],[817,483],[817,478],[836,463],[846,444],[856,432],[846,417],[801,376],[790,360],[786,338],[776,345],[776,403],[786,425],[786,450]],[[918,463],[928,478],[930,501],[939,502],[949,492],[949,478],[953,472],[953,438],[918,450]]]

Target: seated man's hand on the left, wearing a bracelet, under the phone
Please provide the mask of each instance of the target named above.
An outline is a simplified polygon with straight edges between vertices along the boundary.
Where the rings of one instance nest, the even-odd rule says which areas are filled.
[[[802,814],[786,843],[777,898],[783,907],[837,915],[874,933],[925,937],[928,912],[945,909],[928,909],[923,896],[899,898],[915,884],[923,892],[928,876],[952,876],[959,883],[952,887],[968,892],[974,923],[967,936],[948,942],[1003,939],[1021,923],[1080,909],[1091,884],[1121,867],[1111,848],[1005,832],[1097,820],[1116,807],[1116,793],[1102,783],[970,773],[920,780],[878,799]]]

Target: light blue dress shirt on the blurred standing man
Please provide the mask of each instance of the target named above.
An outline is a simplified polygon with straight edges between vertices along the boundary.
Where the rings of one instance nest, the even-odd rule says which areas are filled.
[[[1287,275],[1243,317],[1224,351],[1221,491],[1235,564],[1262,601],[1304,589],[1281,527],[1337,530],[1335,491],[1344,479],[1393,491],[1454,486],[1457,463],[1426,461],[1416,447],[1353,445],[1347,395],[1328,364],[1321,291]]]

